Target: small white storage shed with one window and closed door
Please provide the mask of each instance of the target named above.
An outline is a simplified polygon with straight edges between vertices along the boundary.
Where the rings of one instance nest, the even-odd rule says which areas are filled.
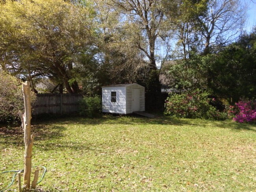
[[[145,111],[145,87],[132,84],[102,87],[102,112],[129,114]]]

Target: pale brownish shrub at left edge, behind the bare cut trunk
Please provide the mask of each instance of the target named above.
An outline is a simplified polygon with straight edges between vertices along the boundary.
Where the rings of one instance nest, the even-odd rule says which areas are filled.
[[[32,104],[34,101],[32,94]],[[17,122],[20,110],[24,112],[22,82],[0,70],[0,122]]]

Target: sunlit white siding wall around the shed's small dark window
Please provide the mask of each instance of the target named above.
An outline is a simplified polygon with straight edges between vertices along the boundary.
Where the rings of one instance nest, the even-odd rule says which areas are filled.
[[[117,92],[117,102],[111,102],[111,92]],[[102,88],[102,112],[126,114],[126,89],[125,87]]]

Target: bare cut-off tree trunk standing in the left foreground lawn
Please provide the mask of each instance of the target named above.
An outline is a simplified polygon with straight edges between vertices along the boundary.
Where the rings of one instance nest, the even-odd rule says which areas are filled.
[[[24,159],[24,177],[23,184],[26,188],[30,188],[30,175],[31,175],[31,157],[33,146],[33,135],[30,133],[30,120],[31,120],[31,104],[30,104],[30,82],[26,81],[22,85],[24,95],[25,113],[19,111],[19,116],[22,121],[22,128],[24,129],[24,142],[25,142],[25,159]]]

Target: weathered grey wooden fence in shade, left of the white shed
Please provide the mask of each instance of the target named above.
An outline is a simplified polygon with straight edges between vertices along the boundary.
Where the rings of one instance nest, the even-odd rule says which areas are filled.
[[[82,98],[80,94],[37,94],[32,115],[76,113]]]

